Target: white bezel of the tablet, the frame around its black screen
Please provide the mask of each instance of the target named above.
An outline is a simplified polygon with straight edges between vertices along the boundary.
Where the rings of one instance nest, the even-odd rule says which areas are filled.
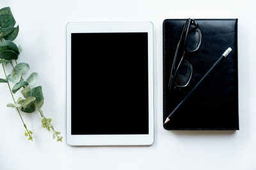
[[[67,144],[152,145],[154,143],[154,80],[153,80],[153,24],[152,22],[68,22],[67,24],[66,114]],[[72,135],[71,134],[71,33],[79,32],[148,32],[148,134]]]

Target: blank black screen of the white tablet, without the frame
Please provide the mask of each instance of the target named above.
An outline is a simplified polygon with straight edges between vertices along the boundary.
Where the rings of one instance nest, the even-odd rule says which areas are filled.
[[[71,134],[148,134],[147,32],[72,33]]]

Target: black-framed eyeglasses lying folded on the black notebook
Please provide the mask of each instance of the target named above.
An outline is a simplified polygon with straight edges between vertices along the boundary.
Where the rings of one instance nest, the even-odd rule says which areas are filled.
[[[173,57],[172,68],[169,79],[169,90],[172,90],[172,85],[175,87],[186,87],[191,80],[193,67],[184,59],[188,52],[195,52],[201,45],[202,32],[195,23],[195,20],[188,18],[183,27],[179,43],[177,45],[175,55]]]

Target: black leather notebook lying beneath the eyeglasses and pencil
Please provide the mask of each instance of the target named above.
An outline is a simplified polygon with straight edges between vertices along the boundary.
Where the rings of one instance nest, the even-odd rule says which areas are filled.
[[[202,32],[200,48],[184,59],[193,66],[188,86],[168,89],[175,49],[185,19],[163,22],[163,121],[186,97],[212,64],[227,50],[232,52],[200,84],[164,124],[167,130],[239,130],[237,19],[195,19]]]

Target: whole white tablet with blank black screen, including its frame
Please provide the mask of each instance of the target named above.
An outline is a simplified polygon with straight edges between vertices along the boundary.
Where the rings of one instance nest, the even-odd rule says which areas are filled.
[[[67,144],[152,143],[152,23],[69,22]]]

